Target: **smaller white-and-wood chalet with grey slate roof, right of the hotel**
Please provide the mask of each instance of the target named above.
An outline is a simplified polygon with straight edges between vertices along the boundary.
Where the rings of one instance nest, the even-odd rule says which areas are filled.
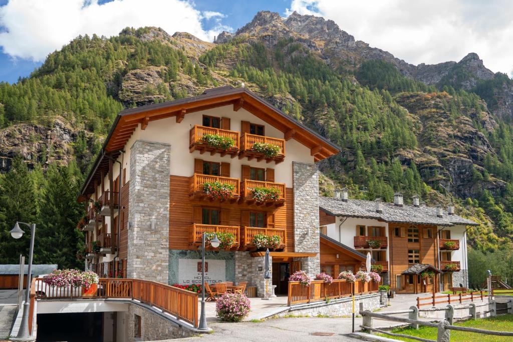
[[[403,204],[348,198],[347,189],[335,197],[320,197],[320,231],[362,254],[371,253],[373,264],[383,267],[382,276],[398,293],[431,292],[449,287],[468,287],[467,226],[477,226],[458,216],[454,206],[426,207],[419,197]],[[357,271],[360,265],[330,262],[321,268],[333,274]],[[424,277],[426,273],[434,274]]]

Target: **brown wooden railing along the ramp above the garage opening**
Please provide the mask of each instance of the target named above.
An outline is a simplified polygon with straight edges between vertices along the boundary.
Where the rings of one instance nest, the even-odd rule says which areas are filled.
[[[47,285],[43,278],[33,279],[31,294],[38,299],[82,298],[82,288],[58,289]],[[43,295],[44,294],[44,295]],[[98,290],[87,298],[126,298],[161,309],[198,327],[198,293],[182,290],[150,280],[100,278]],[[31,310],[33,305],[31,302]]]

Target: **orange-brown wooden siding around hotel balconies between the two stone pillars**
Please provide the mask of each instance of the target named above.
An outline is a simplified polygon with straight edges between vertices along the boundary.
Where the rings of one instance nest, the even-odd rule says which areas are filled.
[[[189,198],[189,177],[170,176],[169,186],[169,249],[196,249],[190,243],[190,227],[194,223],[193,207],[209,207],[227,210],[226,226],[243,226],[244,210],[266,211],[274,215],[274,225],[270,228],[285,228],[287,245],[285,252],[294,251],[294,206],[292,189],[286,189],[287,200],[282,207],[254,207],[245,204],[216,203]]]

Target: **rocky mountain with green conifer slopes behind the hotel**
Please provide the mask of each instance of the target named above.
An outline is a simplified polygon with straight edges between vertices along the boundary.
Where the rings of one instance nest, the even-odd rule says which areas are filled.
[[[511,80],[473,53],[411,65],[295,12],[259,12],[214,43],[154,27],[77,37],[30,77],[0,83],[0,171],[22,155],[86,173],[122,108],[242,84],[342,147],[321,164],[323,194],[453,200],[482,223],[474,246],[513,239]]]

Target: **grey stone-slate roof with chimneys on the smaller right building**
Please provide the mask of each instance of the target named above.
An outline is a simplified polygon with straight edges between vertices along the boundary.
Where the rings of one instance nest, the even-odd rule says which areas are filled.
[[[348,199],[344,202],[333,197],[319,197],[319,207],[333,216],[360,217],[378,219],[389,223],[408,223],[415,225],[436,226],[479,226],[472,220],[458,215],[449,215],[443,211],[443,217],[437,216],[437,208],[395,206],[393,203],[382,202],[382,212],[376,211],[376,202],[372,200]]]

